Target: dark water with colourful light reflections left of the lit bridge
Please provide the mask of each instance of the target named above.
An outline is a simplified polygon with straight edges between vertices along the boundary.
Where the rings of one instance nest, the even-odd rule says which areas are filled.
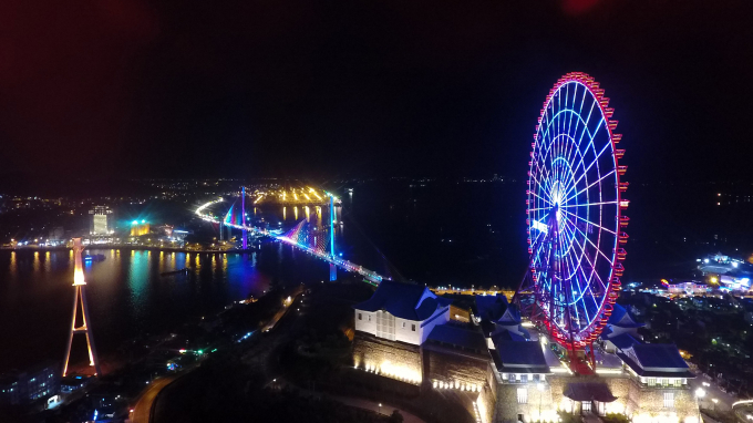
[[[97,350],[114,352],[125,340],[159,333],[212,314],[249,296],[259,297],[277,277],[282,285],[318,281],[326,265],[262,245],[254,254],[197,254],[91,249],[103,261],[84,267]],[[161,274],[188,268],[188,274]],[[70,327],[73,255],[68,250],[0,251],[0,321],[6,326],[0,372],[60,360]]]

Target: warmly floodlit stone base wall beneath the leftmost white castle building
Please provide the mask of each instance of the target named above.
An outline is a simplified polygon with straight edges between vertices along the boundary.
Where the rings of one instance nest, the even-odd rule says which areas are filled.
[[[420,350],[419,345],[355,332],[353,365],[388,378],[417,384],[422,380]]]

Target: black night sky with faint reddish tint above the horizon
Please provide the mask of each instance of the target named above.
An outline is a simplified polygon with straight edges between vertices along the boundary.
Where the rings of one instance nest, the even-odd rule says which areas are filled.
[[[628,180],[752,180],[751,3],[4,1],[0,177],[523,179],[584,71]]]

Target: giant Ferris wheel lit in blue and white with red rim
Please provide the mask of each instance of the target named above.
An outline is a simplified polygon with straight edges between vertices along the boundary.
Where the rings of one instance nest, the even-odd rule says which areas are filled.
[[[575,352],[590,349],[617,299],[628,236],[625,149],[604,90],[568,73],[544,102],[532,144],[527,226],[537,323]],[[523,287],[522,287],[523,289]]]

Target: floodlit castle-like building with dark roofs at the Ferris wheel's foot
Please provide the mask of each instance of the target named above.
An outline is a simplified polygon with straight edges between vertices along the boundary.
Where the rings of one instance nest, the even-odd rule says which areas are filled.
[[[452,390],[484,423],[556,422],[558,412],[622,413],[635,423],[699,423],[673,344],[646,343],[642,323],[615,310],[594,375],[574,374],[546,334],[526,328],[503,295],[475,297],[471,321],[426,287],[382,282],[354,308],[353,365],[422,389]]]

